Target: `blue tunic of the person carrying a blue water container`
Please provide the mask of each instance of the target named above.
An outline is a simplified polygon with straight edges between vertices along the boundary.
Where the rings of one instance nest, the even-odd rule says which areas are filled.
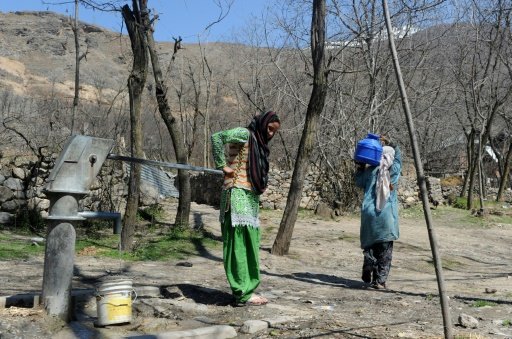
[[[402,168],[402,157],[398,146],[395,147],[395,159],[389,168],[391,176],[391,191],[382,211],[375,208],[375,185],[379,173],[378,166],[369,166],[364,171],[356,172],[356,185],[364,189],[363,203],[361,204],[361,248],[368,249],[380,242],[393,241],[400,236],[398,227],[398,179]]]

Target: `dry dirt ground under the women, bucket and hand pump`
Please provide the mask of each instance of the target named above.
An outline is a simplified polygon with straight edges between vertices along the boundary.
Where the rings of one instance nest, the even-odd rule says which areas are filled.
[[[172,206],[168,208],[173,213]],[[73,289],[77,321],[49,321],[36,308],[0,308],[0,338],[142,338],[212,325],[229,325],[238,338],[442,338],[443,319],[429,236],[418,209],[401,210],[401,237],[395,243],[387,290],[362,283],[359,220],[300,217],[290,253],[270,254],[282,212],[261,216],[262,283],[270,299],[261,307],[232,307],[222,267],[221,246],[186,260],[124,262],[76,257]],[[433,210],[434,230],[445,266],[452,331],[457,338],[512,338],[512,224],[485,222],[449,207]],[[193,204],[194,223],[219,235],[218,211]],[[510,218],[505,219],[510,220]],[[1,295],[40,293],[43,258],[3,261]],[[94,282],[123,274],[140,296],[129,324],[95,327]],[[148,287],[149,286],[149,287]],[[144,295],[154,287],[161,297]],[[479,303],[481,307],[475,307]],[[476,328],[459,324],[473,317]],[[266,320],[269,328],[244,334],[247,320]],[[466,325],[467,326],[467,325]]]

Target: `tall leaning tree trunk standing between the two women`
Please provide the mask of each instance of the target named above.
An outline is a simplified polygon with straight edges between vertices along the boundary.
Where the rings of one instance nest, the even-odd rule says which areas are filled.
[[[293,227],[302,198],[304,177],[313,151],[318,120],[325,104],[327,94],[327,74],[325,67],[325,0],[313,0],[311,20],[311,54],[313,58],[313,90],[306,112],[306,122],[300,139],[297,160],[293,169],[292,182],[286,201],[283,219],[279,226],[272,254],[284,255],[290,249]]]

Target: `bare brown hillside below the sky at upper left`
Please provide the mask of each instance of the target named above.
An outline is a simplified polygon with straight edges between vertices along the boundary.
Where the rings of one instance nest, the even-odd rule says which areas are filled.
[[[0,91],[31,97],[49,93],[73,97],[72,23],[70,17],[53,12],[0,12]],[[115,95],[126,85],[132,65],[128,36],[80,22],[79,40],[80,53],[87,52],[80,63],[81,98],[95,100],[98,89],[103,96],[108,97],[109,92]],[[173,43],[157,46],[165,66],[171,59]],[[197,45],[184,47],[186,52],[182,53],[199,54]],[[217,53],[222,53],[222,48]],[[213,48],[212,55],[217,53]]]

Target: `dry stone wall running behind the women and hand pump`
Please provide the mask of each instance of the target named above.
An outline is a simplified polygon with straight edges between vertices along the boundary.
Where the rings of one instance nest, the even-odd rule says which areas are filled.
[[[4,156],[0,153],[0,224],[10,224],[16,215],[23,211],[37,211],[41,216],[48,215],[50,201],[44,193],[44,185],[54,165],[56,154],[37,156]],[[292,171],[271,168],[269,186],[261,196],[261,206],[266,209],[284,209],[290,189]],[[428,177],[427,186],[431,202],[446,204],[453,196],[458,196],[460,187],[442,187],[441,180]],[[219,207],[222,190],[222,176],[218,174],[192,174],[192,201]],[[330,206],[335,202],[322,201],[322,182],[318,171],[310,171],[304,180],[300,207],[322,210],[329,215]],[[496,196],[496,190],[488,189],[488,199]],[[106,162],[100,175],[91,187],[90,194],[80,201],[80,209],[87,211],[115,211],[124,213],[127,196],[126,166],[120,162]],[[421,203],[416,179],[402,176],[398,187],[399,203],[407,208]],[[158,193],[142,190],[141,205],[158,203],[162,197]],[[512,200],[512,192],[507,190],[505,199]]]

